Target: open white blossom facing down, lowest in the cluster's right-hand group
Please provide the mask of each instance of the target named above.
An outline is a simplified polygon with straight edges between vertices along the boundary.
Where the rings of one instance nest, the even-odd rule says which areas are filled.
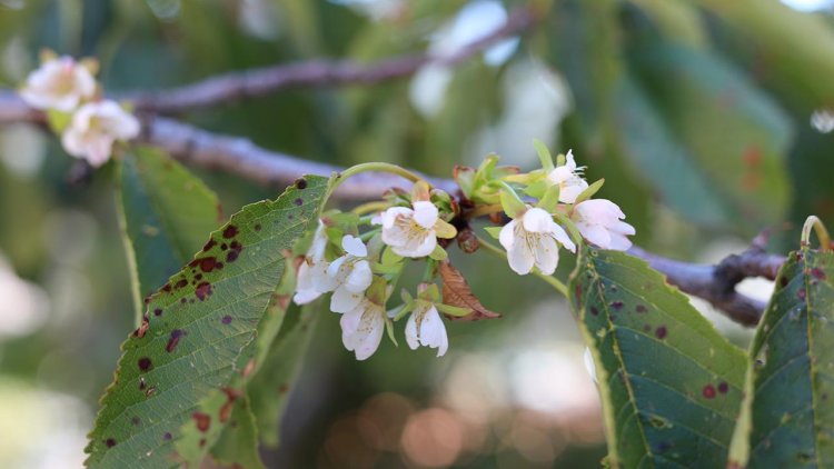
[[[556,271],[559,245],[572,252],[576,251],[565,230],[540,208],[528,208],[504,226],[498,240],[507,250],[509,268],[522,276],[529,273],[534,266],[547,276]]]

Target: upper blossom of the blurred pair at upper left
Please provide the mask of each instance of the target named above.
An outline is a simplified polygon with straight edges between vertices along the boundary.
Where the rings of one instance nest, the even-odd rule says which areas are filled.
[[[70,112],[96,93],[96,79],[71,57],[43,62],[29,73],[20,97],[36,109]]]

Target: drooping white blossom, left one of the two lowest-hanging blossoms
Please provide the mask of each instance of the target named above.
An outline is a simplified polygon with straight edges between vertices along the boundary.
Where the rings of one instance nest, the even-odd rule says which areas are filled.
[[[379,348],[385,333],[385,308],[363,297],[361,302],[341,315],[341,343],[356,353],[357,360],[365,360]]]

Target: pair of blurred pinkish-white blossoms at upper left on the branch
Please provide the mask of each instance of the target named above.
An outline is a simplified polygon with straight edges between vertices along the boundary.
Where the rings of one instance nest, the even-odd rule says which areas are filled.
[[[47,111],[52,129],[61,134],[64,150],[100,167],[110,159],[113,144],[139,134],[139,121],[115,101],[101,99],[92,60],[76,61],[44,52],[20,96],[34,109]]]

